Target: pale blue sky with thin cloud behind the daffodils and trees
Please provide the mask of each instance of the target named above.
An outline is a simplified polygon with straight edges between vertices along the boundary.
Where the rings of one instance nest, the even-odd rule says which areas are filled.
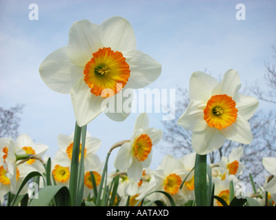
[[[38,21],[28,19],[30,3],[39,6]],[[237,3],[246,6],[245,21],[235,17]],[[47,154],[53,157],[57,135],[74,131],[75,115],[70,96],[43,83],[39,65],[67,45],[72,23],[89,19],[100,24],[112,16],[128,19],[137,49],[161,63],[161,76],[150,89],[188,88],[195,71],[208,69],[219,77],[230,68],[239,72],[244,86],[255,80],[265,85],[264,63],[273,62],[271,46],[276,44],[275,12],[276,1],[0,0],[0,106],[26,104],[19,132],[48,144]],[[130,138],[136,117],[133,113],[124,122],[113,122],[101,114],[88,124],[91,135],[102,140],[101,159],[113,143]],[[161,117],[150,113],[150,126],[162,129]],[[162,157],[156,149],[152,168]]]

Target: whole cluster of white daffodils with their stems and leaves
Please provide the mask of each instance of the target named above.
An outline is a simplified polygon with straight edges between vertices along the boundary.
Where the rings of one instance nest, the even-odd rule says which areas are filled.
[[[28,135],[0,139],[0,199],[8,195],[8,205],[25,198],[21,203],[30,206],[231,206],[242,197],[242,206],[275,206],[276,158],[264,157],[264,168],[271,175],[264,186],[256,188],[253,183],[250,195],[236,187],[241,186],[239,175],[246,166],[241,161],[242,147],[234,148],[217,164],[206,162],[207,154],[226,140],[241,144],[253,140],[248,120],[259,102],[239,92],[241,82],[234,69],[221,82],[204,72],[192,74],[190,104],[178,124],[193,131],[195,152],[181,158],[165,155],[155,170],[150,164],[162,131],[149,126],[146,113],[137,116],[131,137],[110,148],[105,162],[97,155],[101,140],[86,131],[100,113],[124,121],[130,115],[133,89],[150,85],[161,74],[161,65],[137,50],[126,19],[112,17],[101,25],[75,22],[68,45],[47,56],[39,72],[50,89],[70,94],[75,131],[57,137],[59,149],[54,158],[42,159],[48,146],[35,144]],[[114,148],[119,148],[115,170],[108,173]],[[30,181],[37,183],[39,192],[26,202]]]

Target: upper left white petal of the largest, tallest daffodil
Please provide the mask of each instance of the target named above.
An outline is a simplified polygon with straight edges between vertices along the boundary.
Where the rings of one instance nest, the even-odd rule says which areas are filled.
[[[69,41],[66,54],[70,61],[78,67],[84,68],[91,60],[92,53],[102,47],[101,26],[88,20],[77,21],[69,31]]]

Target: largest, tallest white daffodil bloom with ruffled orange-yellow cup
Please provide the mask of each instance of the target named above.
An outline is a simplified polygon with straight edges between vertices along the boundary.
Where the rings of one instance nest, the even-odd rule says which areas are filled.
[[[123,90],[146,87],[159,77],[161,65],[136,49],[135,34],[126,19],[111,17],[101,25],[88,20],[73,23],[68,45],[52,52],[39,72],[50,89],[71,94],[77,124],[83,126],[97,117],[108,101],[120,106],[113,106],[115,111],[106,115],[125,120],[130,109],[119,102],[126,100]]]

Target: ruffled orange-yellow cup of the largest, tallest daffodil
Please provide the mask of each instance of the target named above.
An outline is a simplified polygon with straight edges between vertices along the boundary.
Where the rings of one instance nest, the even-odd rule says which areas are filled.
[[[90,92],[105,98],[117,94],[128,83],[130,66],[121,52],[103,47],[92,54],[83,74],[83,80],[90,88]]]

